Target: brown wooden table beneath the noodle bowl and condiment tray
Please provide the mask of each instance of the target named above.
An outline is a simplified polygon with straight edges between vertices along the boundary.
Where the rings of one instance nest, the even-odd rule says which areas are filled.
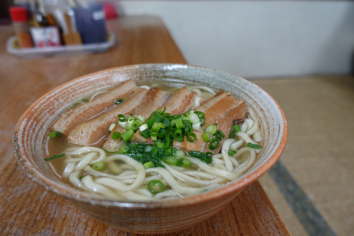
[[[27,60],[6,53],[6,40],[14,32],[11,26],[0,27],[1,235],[129,235],[32,182],[17,165],[11,144],[15,124],[28,106],[68,80],[136,63],[187,63],[158,17],[124,17],[108,24],[118,36],[108,52]],[[290,234],[257,181],[220,213],[172,235]]]

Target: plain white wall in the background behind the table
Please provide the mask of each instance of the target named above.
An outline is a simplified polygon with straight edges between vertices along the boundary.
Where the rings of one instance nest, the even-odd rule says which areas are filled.
[[[352,1],[118,1],[163,19],[187,61],[242,77],[351,72]]]

